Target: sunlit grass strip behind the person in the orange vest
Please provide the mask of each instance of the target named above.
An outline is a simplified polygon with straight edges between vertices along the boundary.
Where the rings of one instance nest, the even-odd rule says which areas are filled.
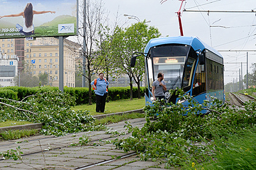
[[[117,113],[117,112],[123,112],[123,111],[129,111],[129,110],[135,110],[135,109],[142,109],[145,106],[145,99],[133,99],[132,101],[129,99],[124,100],[118,100],[118,101],[111,101],[106,102],[105,106],[105,114],[109,113]],[[92,105],[78,105],[75,106],[74,110],[87,110],[90,112],[91,115],[100,115],[102,113],[96,113],[95,111],[96,104]]]

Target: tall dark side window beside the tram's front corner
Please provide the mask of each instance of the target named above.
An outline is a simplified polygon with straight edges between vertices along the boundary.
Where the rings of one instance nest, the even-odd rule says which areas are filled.
[[[193,83],[192,95],[198,95],[206,91],[205,88],[205,69],[204,65],[197,65],[196,74]]]

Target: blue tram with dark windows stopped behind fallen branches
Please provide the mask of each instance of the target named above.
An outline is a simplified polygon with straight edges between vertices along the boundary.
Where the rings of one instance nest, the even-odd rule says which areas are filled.
[[[151,39],[145,54],[146,104],[152,104],[152,84],[158,72],[164,73],[169,102],[182,102],[176,95],[169,95],[170,89],[182,88],[187,94],[203,103],[211,97],[224,101],[223,57],[197,37],[177,36]],[[131,66],[135,65],[132,58]],[[205,110],[206,112],[206,110]]]

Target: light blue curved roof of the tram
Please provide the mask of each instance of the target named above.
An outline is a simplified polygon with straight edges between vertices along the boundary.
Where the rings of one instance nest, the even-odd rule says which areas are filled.
[[[162,44],[184,44],[184,45],[189,45],[195,51],[197,51],[197,50],[203,51],[204,49],[207,49],[209,51],[214,52],[215,54],[217,54],[221,58],[223,58],[222,55],[217,50],[208,46],[207,44],[202,42],[196,36],[170,36],[170,37],[153,38],[148,42],[144,52],[147,53],[151,47],[155,47],[155,46],[162,45]]]

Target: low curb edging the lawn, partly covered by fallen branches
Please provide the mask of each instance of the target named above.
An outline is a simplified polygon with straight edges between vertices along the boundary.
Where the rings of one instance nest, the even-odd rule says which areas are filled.
[[[131,113],[143,113],[143,109],[130,110],[130,111],[118,112],[118,113],[110,113],[105,115],[95,115],[93,117],[95,119],[103,119],[113,115],[131,114]],[[41,123],[24,124],[24,125],[18,125],[18,126],[7,126],[7,127],[0,127],[0,133],[4,131],[9,131],[9,130],[41,129],[41,128],[42,128]]]

